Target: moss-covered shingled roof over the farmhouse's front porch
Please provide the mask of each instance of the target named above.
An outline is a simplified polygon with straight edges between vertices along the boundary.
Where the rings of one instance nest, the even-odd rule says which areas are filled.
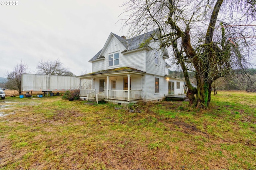
[[[146,72],[141,71],[141,70],[137,70],[135,68],[131,68],[131,67],[120,67],[120,68],[111,68],[108,70],[100,70],[97,72],[92,72],[89,74],[84,74],[81,76],[76,76],[77,78],[92,78],[95,76],[102,76],[102,75],[116,75],[116,74],[146,74]]]

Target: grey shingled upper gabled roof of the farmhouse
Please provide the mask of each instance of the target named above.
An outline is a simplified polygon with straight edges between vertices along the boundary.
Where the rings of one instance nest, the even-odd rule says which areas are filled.
[[[110,33],[103,49],[101,49],[94,57],[92,57],[92,59],[90,59],[89,62],[105,58],[102,55],[102,53],[104,53],[104,49],[106,49],[106,47],[108,46],[108,43],[110,42],[110,39],[112,36],[114,36],[125,47],[126,50],[124,50],[122,52],[127,52],[127,51],[132,51],[132,50],[148,47],[148,44],[152,40],[152,36],[154,37],[154,35],[156,35],[158,33],[159,33],[159,30],[156,29],[154,31],[150,31],[148,33],[144,33],[142,35],[138,35],[138,36],[130,38],[130,39],[124,39],[114,33]]]

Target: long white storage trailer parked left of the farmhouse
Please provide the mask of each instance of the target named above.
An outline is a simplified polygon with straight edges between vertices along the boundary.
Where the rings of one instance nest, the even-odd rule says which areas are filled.
[[[52,91],[78,90],[80,80],[74,76],[55,76],[42,74],[22,74],[23,92],[41,91],[48,94]]]

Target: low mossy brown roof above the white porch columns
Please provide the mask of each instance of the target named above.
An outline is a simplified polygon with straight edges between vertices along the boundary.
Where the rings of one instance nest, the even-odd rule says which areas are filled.
[[[102,74],[112,74],[112,73],[124,73],[124,72],[133,72],[133,73],[139,73],[139,74],[145,74],[146,72],[141,71],[141,70],[137,70],[135,68],[131,68],[131,67],[120,67],[120,68],[111,68],[108,70],[100,70],[97,72],[92,72],[89,74],[84,74],[81,76],[76,76],[78,78],[82,78],[82,77],[89,77],[89,76],[97,76],[97,75],[102,75]]]

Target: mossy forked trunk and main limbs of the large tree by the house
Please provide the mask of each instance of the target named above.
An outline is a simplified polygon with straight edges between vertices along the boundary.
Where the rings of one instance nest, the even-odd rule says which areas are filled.
[[[184,52],[186,53],[186,59],[189,59],[195,70],[196,70],[196,80],[197,80],[197,95],[195,102],[192,102],[193,99],[193,92],[192,92],[192,86],[189,82],[189,79],[186,80],[186,69],[183,69],[184,65],[182,66],[182,63],[184,64],[184,61],[179,61],[179,63],[182,66],[182,70],[184,72],[185,80],[188,85],[188,88],[190,89],[189,91],[189,98],[190,98],[190,104],[193,104],[196,107],[200,108],[206,108],[210,104],[211,100],[211,86],[212,82],[214,81],[214,78],[212,77],[212,72],[209,72],[209,70],[214,69],[214,63],[211,63],[214,59],[214,53],[212,53],[211,49],[214,49],[213,44],[212,44],[212,37],[214,33],[214,27],[216,24],[216,20],[218,17],[218,13],[220,10],[220,7],[222,5],[223,0],[217,0],[216,4],[212,10],[212,15],[210,18],[210,22],[208,25],[208,29],[205,35],[205,48],[203,54],[201,53],[196,53],[196,51],[193,49],[191,42],[190,42],[190,26],[189,23],[186,25],[186,30],[182,32],[180,28],[176,25],[176,23],[172,20],[172,5],[173,1],[169,0],[169,3],[171,4],[170,6],[170,11],[169,11],[169,18],[168,18],[168,23],[175,29],[177,37],[182,38],[182,47],[184,48]],[[176,42],[173,43],[173,47],[176,45]],[[174,47],[176,49],[176,47]],[[176,54],[179,54],[177,50]],[[177,53],[178,52],[178,53]],[[179,60],[179,55],[176,55],[176,57]],[[184,59],[184,58],[182,58]],[[185,67],[186,68],[186,67]]]

